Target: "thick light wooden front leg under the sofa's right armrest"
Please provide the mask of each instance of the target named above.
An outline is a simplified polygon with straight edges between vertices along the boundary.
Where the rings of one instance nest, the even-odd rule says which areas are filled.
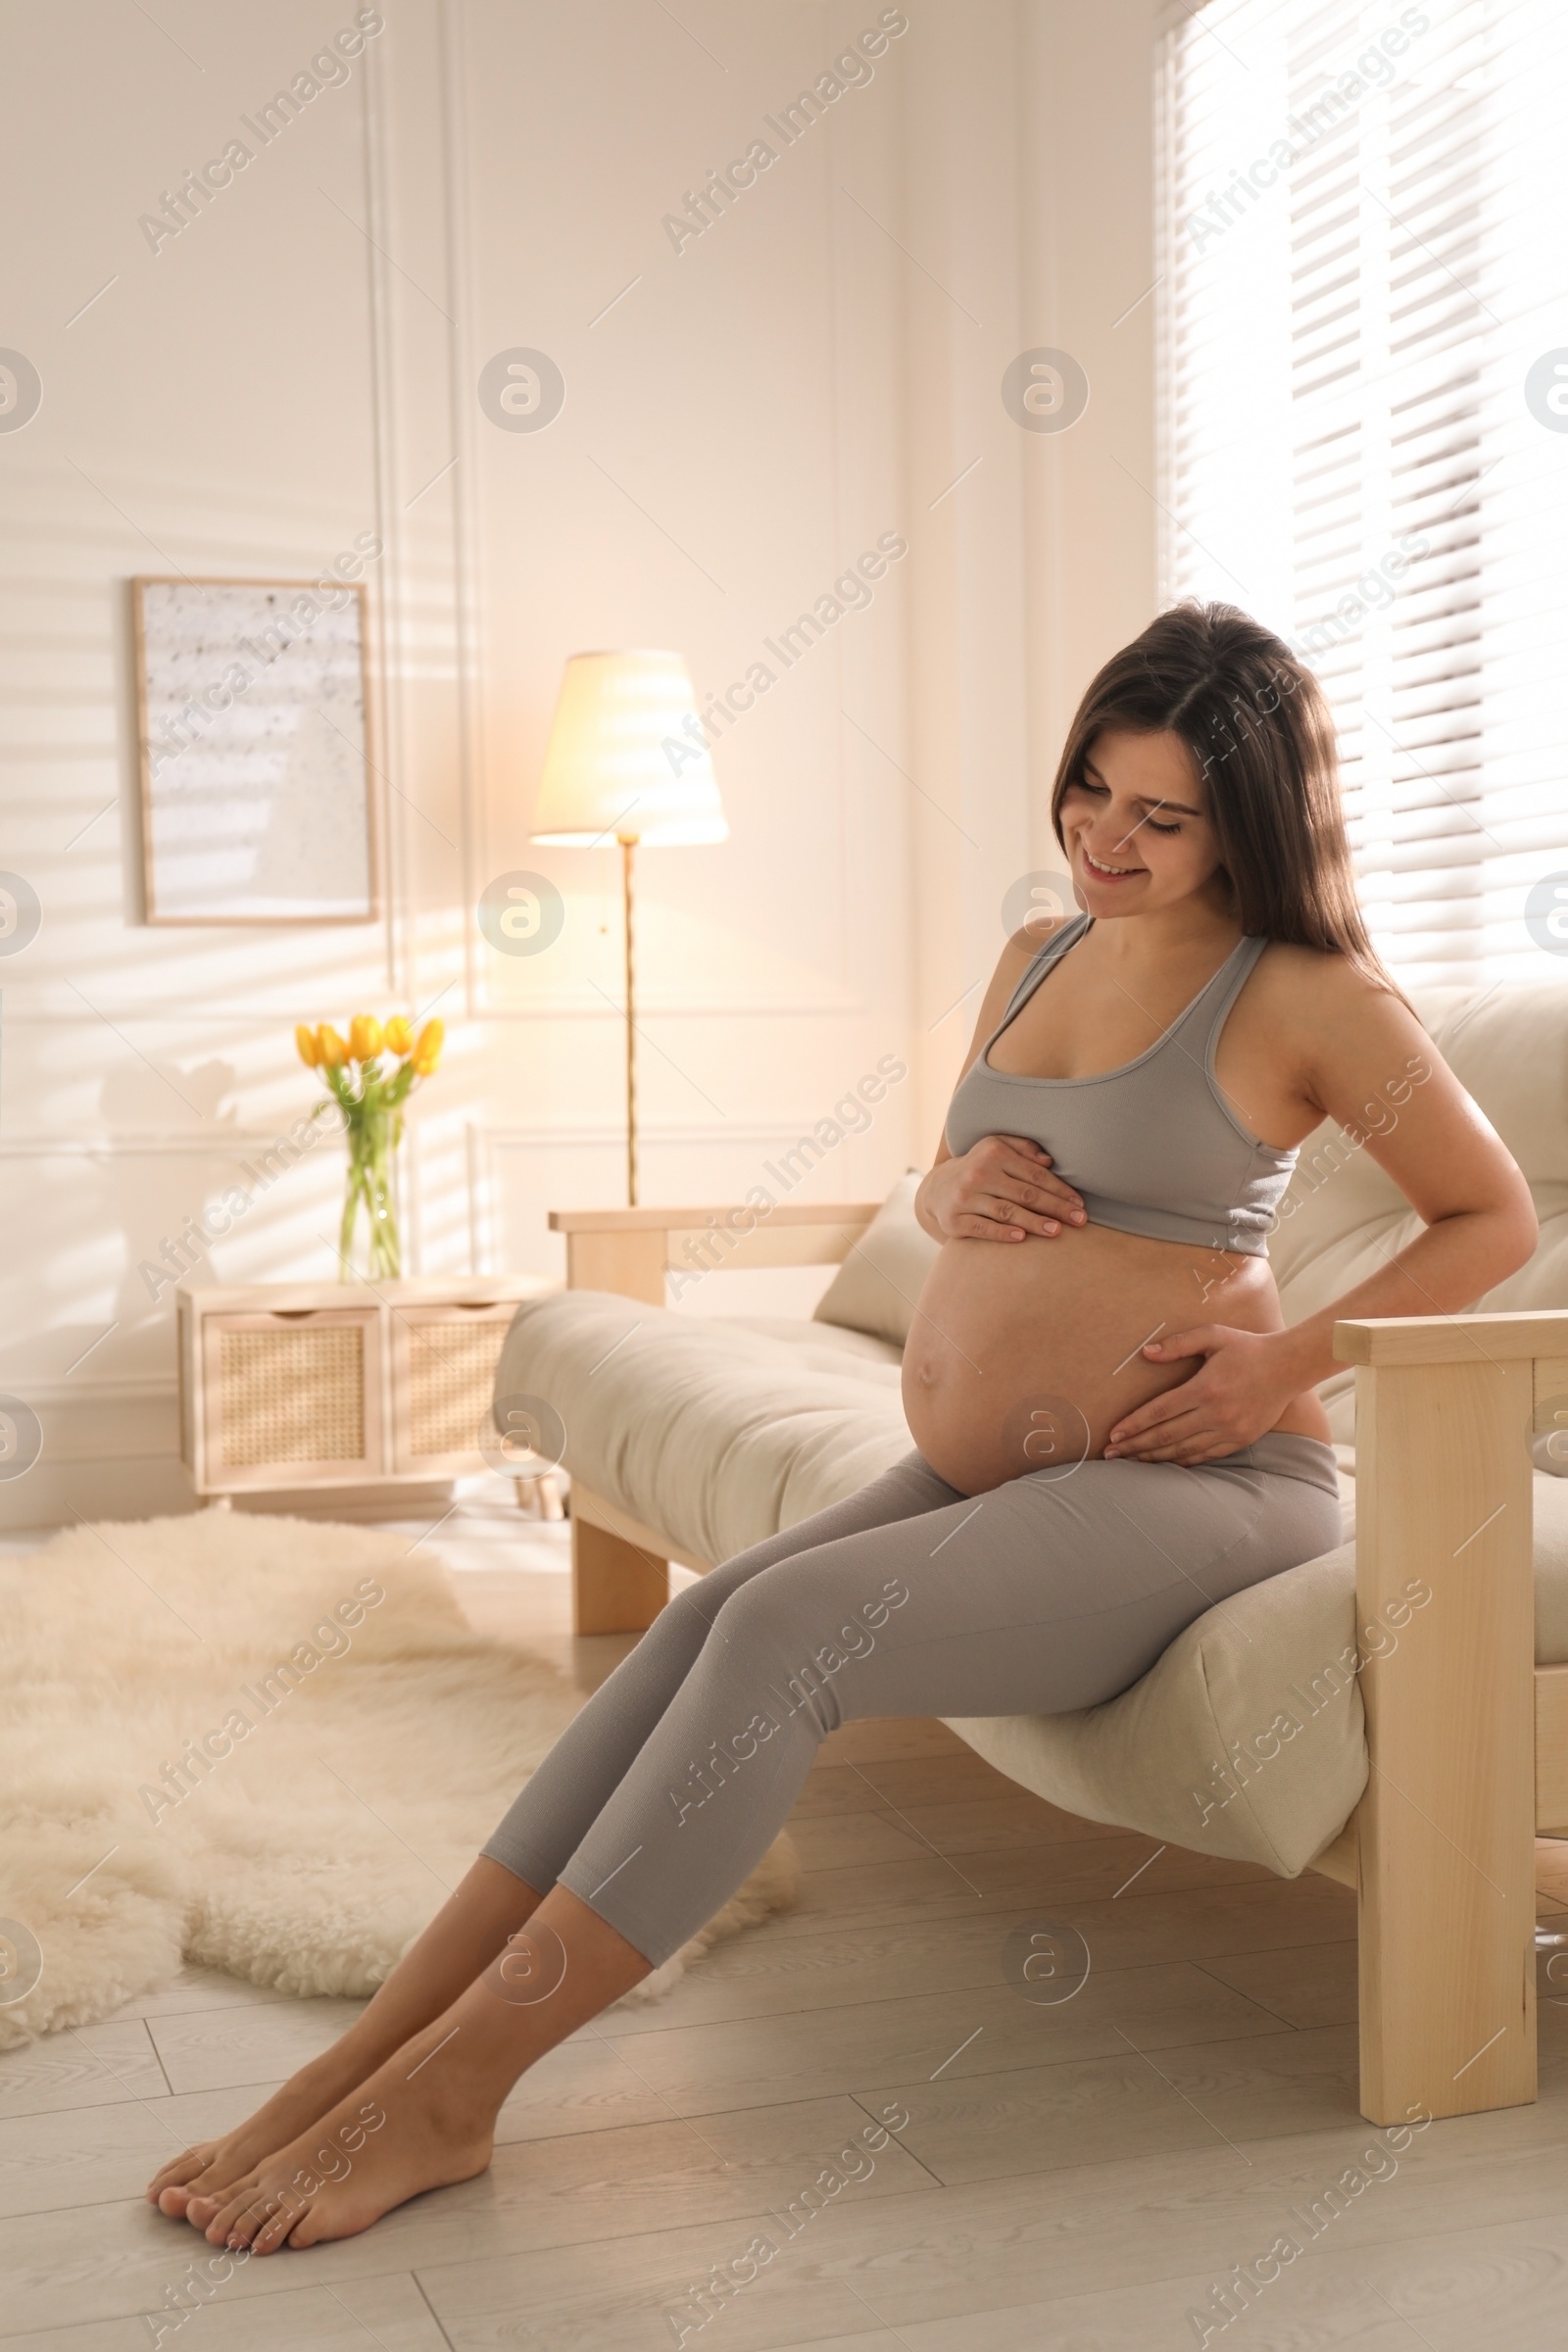
[[[1460,1350],[1356,1371],[1373,2124],[1535,2098],[1530,1362]]]

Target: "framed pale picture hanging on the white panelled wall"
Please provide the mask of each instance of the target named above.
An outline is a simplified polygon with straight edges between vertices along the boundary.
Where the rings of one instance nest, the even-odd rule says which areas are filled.
[[[367,595],[132,581],[148,922],[374,922]]]

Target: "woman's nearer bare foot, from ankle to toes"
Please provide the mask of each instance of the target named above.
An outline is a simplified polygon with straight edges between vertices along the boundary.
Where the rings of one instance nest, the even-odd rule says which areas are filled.
[[[214,2246],[315,2246],[355,2237],[423,2190],[482,2173],[494,2112],[456,2065],[442,2070],[442,2025],[428,2027],[228,2194],[190,2199],[188,2220]]]

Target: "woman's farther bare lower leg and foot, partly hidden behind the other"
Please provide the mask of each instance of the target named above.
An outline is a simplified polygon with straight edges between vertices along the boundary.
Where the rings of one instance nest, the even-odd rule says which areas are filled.
[[[292,2074],[282,2091],[226,2138],[202,2140],[165,2164],[148,2183],[148,2204],[174,2218],[181,2218],[193,2201],[205,2204],[205,2213],[190,2213],[190,2220],[205,2227],[219,2192],[228,2192],[263,2157],[308,2131],[421,2025],[440,2018],[503,1950],[505,1938],[529,1919],[536,1903],[538,1896],[524,1879],[512,1877],[501,1863],[477,1860],[348,2032]]]

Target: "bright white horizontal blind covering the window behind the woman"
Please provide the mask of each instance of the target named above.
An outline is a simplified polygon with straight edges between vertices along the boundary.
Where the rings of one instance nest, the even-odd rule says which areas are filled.
[[[1568,981],[1568,7],[1182,5],[1159,111],[1166,600],[1319,673],[1406,983]]]

